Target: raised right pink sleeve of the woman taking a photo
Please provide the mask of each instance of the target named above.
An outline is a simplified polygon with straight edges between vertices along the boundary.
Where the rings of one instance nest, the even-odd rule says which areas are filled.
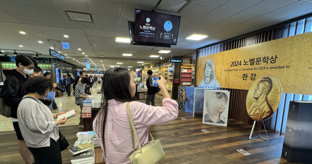
[[[134,122],[144,127],[151,127],[157,124],[163,124],[176,119],[178,115],[178,106],[175,100],[165,98],[162,100],[163,107],[153,107],[144,103],[131,103],[130,109]]]

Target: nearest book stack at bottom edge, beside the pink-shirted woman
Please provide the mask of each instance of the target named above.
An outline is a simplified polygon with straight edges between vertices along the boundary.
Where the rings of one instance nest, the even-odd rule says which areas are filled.
[[[88,150],[74,155],[71,159],[72,164],[94,164],[96,160],[94,150]]]

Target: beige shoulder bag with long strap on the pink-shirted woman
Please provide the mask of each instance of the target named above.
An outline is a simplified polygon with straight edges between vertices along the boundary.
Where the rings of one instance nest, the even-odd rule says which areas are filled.
[[[133,154],[129,157],[131,164],[158,164],[166,155],[164,150],[162,149],[161,143],[159,140],[154,140],[152,133],[151,137],[153,141],[148,142],[146,145],[141,147],[140,140],[137,137],[137,131],[135,125],[132,120],[131,112],[130,112],[130,102],[127,103],[127,112],[129,116],[130,123],[130,131],[133,145]],[[138,150],[136,151],[135,140],[133,137],[133,133],[136,136]]]

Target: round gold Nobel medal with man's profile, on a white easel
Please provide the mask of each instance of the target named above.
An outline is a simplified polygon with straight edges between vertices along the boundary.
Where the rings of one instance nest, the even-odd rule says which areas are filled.
[[[254,81],[250,87],[246,108],[254,121],[269,119],[279,106],[282,87],[278,79],[272,75],[264,75]]]

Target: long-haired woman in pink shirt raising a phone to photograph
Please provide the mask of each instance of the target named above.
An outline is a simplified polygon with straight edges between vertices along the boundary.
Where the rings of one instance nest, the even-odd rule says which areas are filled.
[[[177,103],[170,98],[165,79],[158,77],[161,78],[158,85],[164,98],[163,107],[153,107],[132,100],[136,94],[136,84],[127,69],[114,68],[106,71],[103,78],[105,105],[93,122],[93,130],[105,153],[106,164],[130,164],[129,157],[133,153],[133,146],[127,102],[131,102],[130,111],[141,146],[148,143],[149,127],[176,119]],[[137,141],[135,142],[137,147]]]

